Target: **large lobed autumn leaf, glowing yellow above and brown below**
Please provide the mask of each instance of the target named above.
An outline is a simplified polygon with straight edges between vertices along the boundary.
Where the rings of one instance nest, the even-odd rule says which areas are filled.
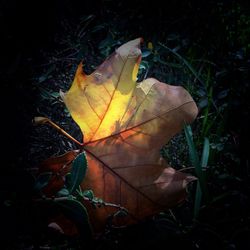
[[[136,82],[140,43],[122,45],[91,75],[80,64],[70,90],[61,93],[84,134],[89,169],[82,188],[127,208],[131,221],[183,201],[194,179],[162,162],[160,149],[195,119],[196,104],[182,87]],[[96,228],[113,212],[88,209]]]

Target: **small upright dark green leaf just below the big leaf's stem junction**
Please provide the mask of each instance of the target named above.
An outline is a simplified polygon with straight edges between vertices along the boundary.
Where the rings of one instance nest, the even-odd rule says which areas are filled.
[[[71,185],[68,187],[70,193],[73,193],[83,181],[87,166],[87,159],[84,152],[79,154],[72,162]]]

